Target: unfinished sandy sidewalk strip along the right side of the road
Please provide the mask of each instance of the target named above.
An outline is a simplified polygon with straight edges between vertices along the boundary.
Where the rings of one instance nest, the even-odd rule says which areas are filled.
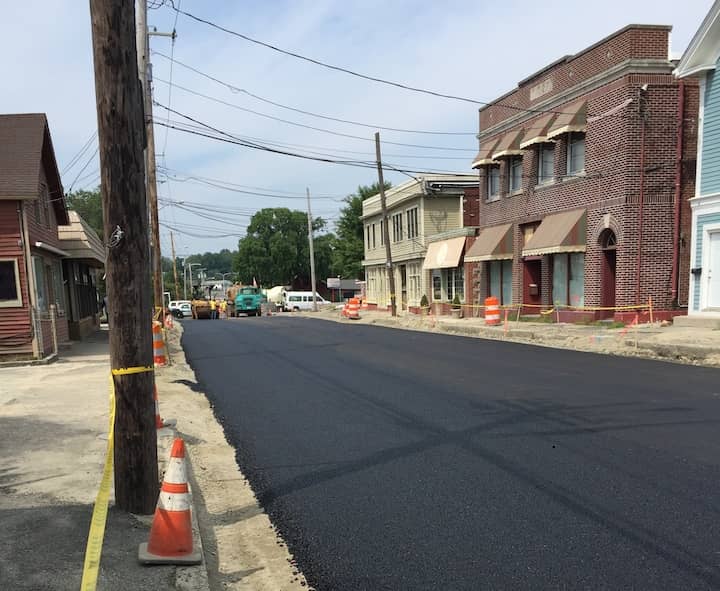
[[[457,334],[484,339],[507,340],[558,349],[592,351],[608,355],[627,355],[662,359],[693,365],[720,366],[720,330],[712,323],[706,327],[641,324],[625,328],[593,325],[516,321],[508,314],[507,326],[486,326],[481,317],[419,316],[403,313],[361,310],[359,320],[349,320],[340,310],[325,309],[305,313],[344,323],[372,324],[406,330]],[[504,320],[504,313],[501,317]]]

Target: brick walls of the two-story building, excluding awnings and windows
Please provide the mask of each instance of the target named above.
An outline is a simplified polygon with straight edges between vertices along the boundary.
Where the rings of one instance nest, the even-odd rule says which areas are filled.
[[[646,303],[687,306],[690,207],[695,191],[698,87],[679,83],[667,60],[668,27],[632,25],[576,56],[564,58],[522,81],[518,88],[480,111],[480,144],[515,129],[527,130],[546,111],[562,112],[586,101],[585,170],[567,173],[568,134],[554,138],[554,182],[538,184],[539,145],[522,152],[522,189],[509,194],[509,160],[500,158],[501,195],[487,199],[488,166],[479,167],[477,211],[482,227],[514,224],[513,303],[528,303],[523,260],[524,224],[552,213],[586,210],[584,306],[605,305],[601,244],[615,234],[615,306]],[[684,87],[684,88],[683,88]],[[682,89],[682,90],[681,90]],[[684,113],[678,114],[680,92]],[[528,112],[528,110],[532,110]],[[682,125],[682,161],[676,150]],[[676,172],[680,170],[680,236],[677,294],[671,285]],[[466,223],[468,220],[466,216]],[[470,218],[475,220],[477,218]],[[641,246],[640,246],[641,245]],[[540,257],[540,302],[552,305],[553,255]],[[487,263],[469,264],[468,296],[489,295]],[[495,295],[495,294],[493,294]]]

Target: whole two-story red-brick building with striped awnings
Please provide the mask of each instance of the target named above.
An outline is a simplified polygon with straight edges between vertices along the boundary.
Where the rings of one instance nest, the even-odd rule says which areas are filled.
[[[480,109],[466,299],[686,309],[698,87],[673,77],[669,34],[629,25]]]

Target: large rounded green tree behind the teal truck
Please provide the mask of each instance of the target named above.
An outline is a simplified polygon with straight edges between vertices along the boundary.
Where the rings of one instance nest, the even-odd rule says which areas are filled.
[[[325,220],[313,220],[313,232],[320,232]],[[318,280],[328,276],[334,237],[315,236],[315,270]],[[310,247],[307,215],[284,207],[258,211],[250,220],[247,234],[238,242],[234,270],[243,283],[310,285]]]

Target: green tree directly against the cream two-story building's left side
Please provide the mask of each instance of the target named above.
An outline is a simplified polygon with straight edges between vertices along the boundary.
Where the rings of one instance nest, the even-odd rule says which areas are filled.
[[[385,190],[392,185],[385,182]],[[347,279],[362,279],[365,274],[362,260],[365,257],[362,204],[365,199],[377,195],[380,184],[360,185],[352,195],[345,197],[345,207],[340,210],[340,219],[335,224],[337,238],[333,251],[332,273]]]

